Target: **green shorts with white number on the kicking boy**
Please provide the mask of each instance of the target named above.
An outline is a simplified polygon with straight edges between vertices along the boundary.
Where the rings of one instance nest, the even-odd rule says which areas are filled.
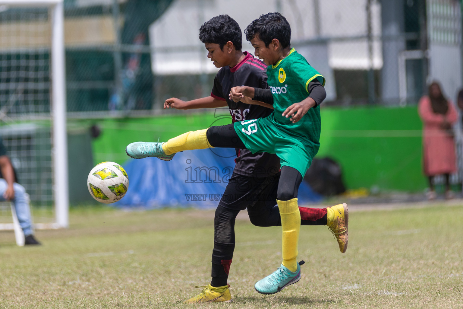
[[[318,147],[314,151],[313,147],[307,147],[296,137],[280,130],[268,117],[237,121],[233,125],[239,138],[252,153],[275,153],[280,158],[281,166],[299,170],[302,177],[318,151]]]

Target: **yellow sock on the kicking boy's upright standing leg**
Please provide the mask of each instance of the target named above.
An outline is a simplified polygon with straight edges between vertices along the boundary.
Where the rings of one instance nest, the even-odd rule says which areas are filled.
[[[297,198],[289,201],[276,200],[276,202],[282,217],[282,264],[294,272],[297,270],[297,244],[300,230],[300,212],[297,206]]]

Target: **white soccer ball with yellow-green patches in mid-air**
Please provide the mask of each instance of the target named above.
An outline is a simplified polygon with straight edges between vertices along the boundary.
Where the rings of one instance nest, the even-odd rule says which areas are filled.
[[[102,162],[90,170],[87,187],[95,200],[109,204],[124,197],[129,188],[129,177],[119,164]]]

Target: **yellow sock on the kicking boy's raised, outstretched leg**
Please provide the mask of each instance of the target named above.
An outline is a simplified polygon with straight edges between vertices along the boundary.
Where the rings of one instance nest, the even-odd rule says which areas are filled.
[[[163,144],[163,151],[166,155],[171,155],[184,150],[206,149],[212,147],[207,141],[206,131],[207,129],[190,131],[169,139]]]

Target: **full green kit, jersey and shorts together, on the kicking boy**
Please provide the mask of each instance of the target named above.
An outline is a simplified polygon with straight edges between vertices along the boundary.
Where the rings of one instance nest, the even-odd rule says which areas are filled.
[[[309,82],[317,78],[325,85],[325,78],[294,48],[288,57],[267,67],[267,76],[274,112],[265,118],[237,121],[233,127],[252,153],[275,153],[281,166],[293,167],[304,177],[320,147],[320,107],[310,108],[296,123],[282,113],[307,98]]]

